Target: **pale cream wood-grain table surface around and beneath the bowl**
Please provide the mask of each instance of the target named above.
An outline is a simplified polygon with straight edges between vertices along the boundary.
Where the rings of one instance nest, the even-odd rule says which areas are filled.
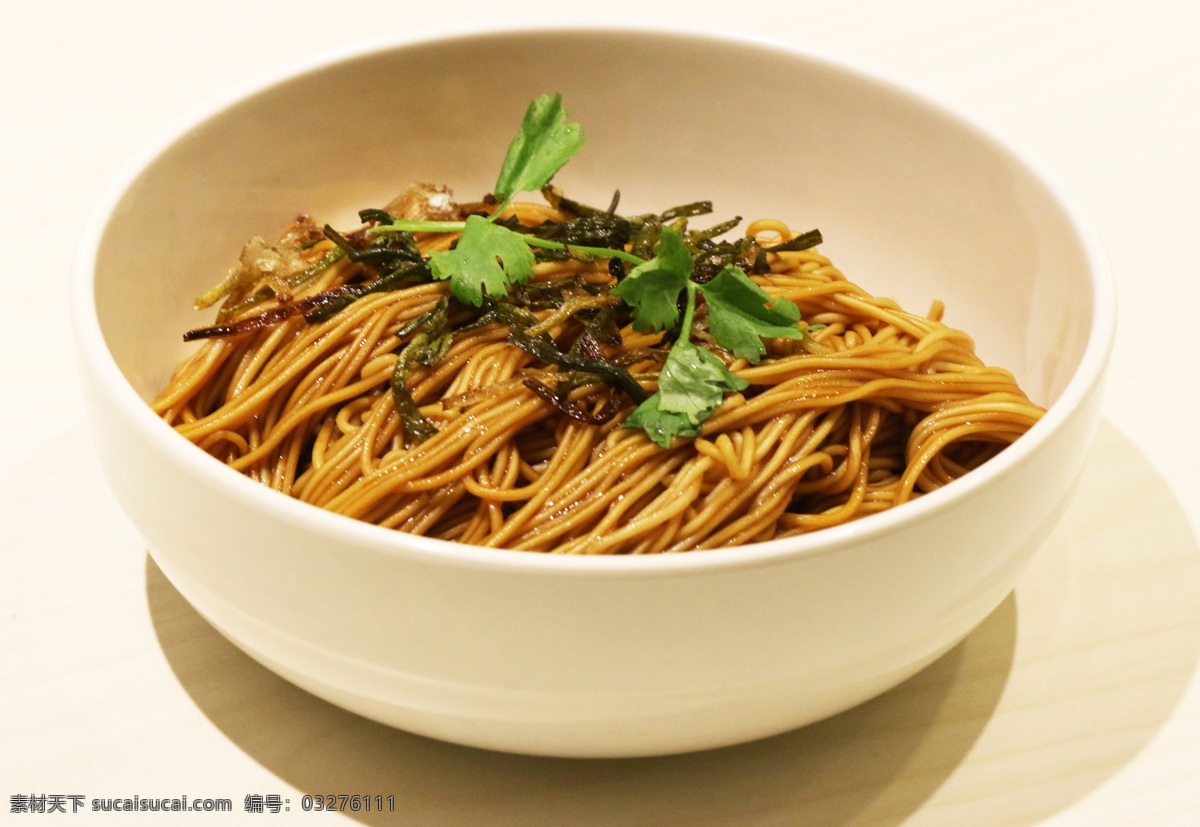
[[[812,46],[907,78],[1045,162],[1108,246],[1121,329],[1079,493],[1014,594],[916,678],[740,747],[521,757],[319,701],[241,654],[175,592],[108,492],[79,400],[66,284],[84,217],[119,167],[199,102],[305,54],[499,19],[502,6],[545,19],[564,4],[461,0],[452,20],[440,5],[379,0],[348,13],[310,0],[60,0],[6,13],[0,813],[18,819],[19,796],[67,797],[70,811],[68,796],[90,809],[186,795],[229,798],[234,811],[214,821],[1200,823],[1200,441],[1180,438],[1200,427],[1190,0],[588,10]],[[301,811],[302,796],[328,793],[383,796],[394,809]],[[247,813],[247,796],[280,796],[290,813]]]

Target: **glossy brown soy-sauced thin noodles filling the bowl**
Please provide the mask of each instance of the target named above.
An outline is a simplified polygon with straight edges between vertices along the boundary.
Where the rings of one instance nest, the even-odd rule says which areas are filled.
[[[506,215],[527,226],[572,217],[532,204]],[[792,238],[780,221],[756,222],[748,235],[760,248]],[[415,238],[422,252],[455,240]],[[312,264],[330,250],[322,240],[302,254]],[[694,342],[750,385],[724,398],[701,436],[670,448],[623,426],[634,402],[604,377],[517,347],[511,324],[446,305],[440,281],[367,293],[324,319],[296,313],[208,338],[154,409],[240,473],[336,514],[480,546],[588,555],[761,543],[854,520],[968,473],[1043,414],[1008,371],[984,365],[972,340],[940,320],[941,302],[910,313],[812,248],[761,260],[769,269],[755,282],[823,326],[803,340],[767,340],[766,358],[749,364],[708,342],[701,325]],[[342,258],[290,301],[371,275]],[[575,341],[616,313],[619,342],[610,336],[593,355],[653,392],[664,335],[634,330],[619,299],[595,289],[614,281],[606,260],[539,262],[532,284],[565,287],[556,305],[530,311],[526,332]],[[262,288],[241,286],[220,322],[283,306],[247,304]],[[390,383],[422,334],[397,332],[439,307],[454,317],[452,341],[427,364],[400,365],[415,409],[436,429],[416,439]]]

